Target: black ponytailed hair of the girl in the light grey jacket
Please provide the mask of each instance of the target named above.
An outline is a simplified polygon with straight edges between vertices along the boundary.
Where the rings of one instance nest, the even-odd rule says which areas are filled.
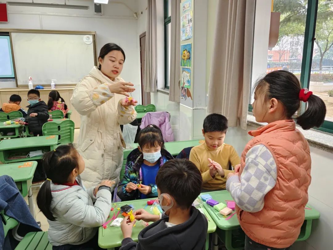
[[[53,183],[64,183],[73,169],[78,168],[78,151],[73,144],[61,145],[56,150],[45,153],[43,156],[43,169],[48,179]],[[46,180],[41,186],[37,195],[37,206],[51,221],[55,221],[55,217],[51,212],[51,181]]]

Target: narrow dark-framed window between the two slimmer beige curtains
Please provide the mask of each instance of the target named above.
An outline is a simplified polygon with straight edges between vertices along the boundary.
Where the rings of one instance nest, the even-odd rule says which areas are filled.
[[[171,0],[164,0],[164,72],[165,88],[169,89],[170,75],[170,43],[171,43]]]

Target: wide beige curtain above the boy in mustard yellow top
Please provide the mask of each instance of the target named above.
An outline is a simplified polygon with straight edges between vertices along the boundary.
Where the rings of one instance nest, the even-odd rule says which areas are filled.
[[[255,0],[220,0],[208,87],[207,113],[247,129]]]

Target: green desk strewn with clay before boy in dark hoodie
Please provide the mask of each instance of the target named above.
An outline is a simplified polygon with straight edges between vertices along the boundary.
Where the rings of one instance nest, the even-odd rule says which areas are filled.
[[[120,208],[121,206],[124,206],[124,205],[133,204],[134,211],[135,211],[140,208],[144,208],[147,205],[148,200],[150,200],[150,199],[122,201],[122,202],[116,203],[116,205],[117,205],[116,207],[113,203],[112,207],[114,207],[115,209],[114,209],[114,211],[110,212],[110,217],[108,218],[108,220],[114,215],[114,212],[116,212],[116,215],[117,215],[117,213],[118,213],[117,208]],[[147,206],[147,208],[145,210],[150,212],[150,207],[151,206]],[[206,213],[206,214],[209,219],[207,233],[208,234],[213,233],[216,230],[216,225],[215,225],[213,219],[210,217],[210,215],[208,213]],[[123,218],[121,213],[119,213],[118,217]],[[110,224],[111,224],[111,222],[109,223],[109,225],[106,229],[104,229],[102,226],[99,227],[98,245],[101,248],[114,249],[115,247],[119,247],[122,245],[122,240],[124,239],[122,230],[120,229],[120,227],[111,227]],[[138,242],[138,235],[139,235],[140,231],[144,228],[144,226],[141,225],[139,221],[136,224],[137,225],[133,228],[132,239],[134,241]]]

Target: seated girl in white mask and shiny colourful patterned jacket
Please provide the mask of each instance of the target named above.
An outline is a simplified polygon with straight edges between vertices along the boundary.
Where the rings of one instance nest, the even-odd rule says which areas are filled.
[[[157,197],[157,172],[173,159],[164,148],[162,131],[156,125],[148,125],[138,137],[139,147],[128,155],[125,174],[118,186],[117,194],[123,201]]]

